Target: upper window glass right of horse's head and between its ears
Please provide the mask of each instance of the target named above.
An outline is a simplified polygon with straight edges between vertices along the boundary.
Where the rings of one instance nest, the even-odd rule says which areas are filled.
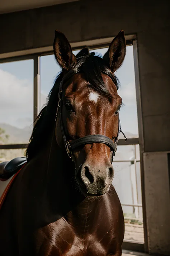
[[[97,49],[95,52],[102,55],[108,48]],[[123,100],[123,105],[120,109],[119,115],[123,132],[127,138],[138,138],[138,120],[137,120],[137,104],[136,104],[136,88],[134,77],[134,60],[133,60],[133,46],[127,46],[126,57],[121,68],[115,72],[121,86],[118,94]],[[123,139],[123,134],[120,134],[120,139]]]

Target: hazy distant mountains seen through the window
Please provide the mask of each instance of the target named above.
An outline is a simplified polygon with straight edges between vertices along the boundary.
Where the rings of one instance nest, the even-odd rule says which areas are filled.
[[[8,144],[10,143],[16,143],[16,144],[22,144],[22,143],[28,143],[29,138],[32,133],[32,125],[26,126],[23,129],[20,129],[18,127],[8,125],[7,123],[0,123],[0,127],[5,130],[5,133],[9,135]],[[129,132],[125,132],[127,138],[137,138],[138,136]],[[119,139],[124,139],[124,136],[122,133],[119,135]]]

